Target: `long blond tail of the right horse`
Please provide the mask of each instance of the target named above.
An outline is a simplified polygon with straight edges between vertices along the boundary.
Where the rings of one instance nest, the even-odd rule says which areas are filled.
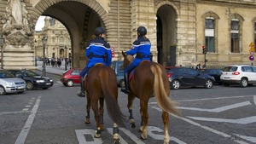
[[[169,98],[169,93],[166,92],[160,66],[152,65],[150,66],[150,70],[154,74],[154,96],[159,107],[166,112],[171,112],[177,116],[180,116],[180,112],[177,110],[175,102]],[[168,90],[170,90],[170,88]]]

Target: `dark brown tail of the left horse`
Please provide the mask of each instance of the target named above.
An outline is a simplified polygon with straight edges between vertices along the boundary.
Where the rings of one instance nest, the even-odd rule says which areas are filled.
[[[118,124],[121,127],[125,127],[124,121],[125,116],[120,111],[118,104],[118,89],[117,84],[113,82],[113,79],[110,78],[111,73],[108,72],[108,69],[103,69],[99,72],[99,78],[102,84],[102,95],[105,98],[108,115],[113,120],[114,123]],[[116,90],[116,91],[115,91]],[[116,98],[116,99],[115,99]]]

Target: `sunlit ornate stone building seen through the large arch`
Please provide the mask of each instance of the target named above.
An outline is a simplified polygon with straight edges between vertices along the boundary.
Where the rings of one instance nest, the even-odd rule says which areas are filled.
[[[43,30],[35,32],[34,37],[36,58],[43,58],[43,37],[47,37],[47,43],[45,44],[46,58],[71,58],[69,33],[59,20],[46,17]]]

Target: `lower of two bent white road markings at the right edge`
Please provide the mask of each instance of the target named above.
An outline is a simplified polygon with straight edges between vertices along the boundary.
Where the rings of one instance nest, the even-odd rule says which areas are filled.
[[[239,119],[225,119],[225,118],[203,118],[203,117],[188,117],[195,120],[207,121],[207,122],[223,122],[233,124],[251,124],[256,122],[256,116],[239,118]]]

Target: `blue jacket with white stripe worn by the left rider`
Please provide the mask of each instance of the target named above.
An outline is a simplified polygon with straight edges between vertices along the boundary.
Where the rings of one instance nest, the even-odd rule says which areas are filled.
[[[103,56],[107,55],[107,61],[104,61]],[[112,54],[111,49],[108,43],[104,41],[102,37],[96,37],[95,39],[91,40],[87,47],[85,56],[89,58],[88,60],[88,67],[94,66],[96,63],[102,63],[105,66],[111,65]]]

